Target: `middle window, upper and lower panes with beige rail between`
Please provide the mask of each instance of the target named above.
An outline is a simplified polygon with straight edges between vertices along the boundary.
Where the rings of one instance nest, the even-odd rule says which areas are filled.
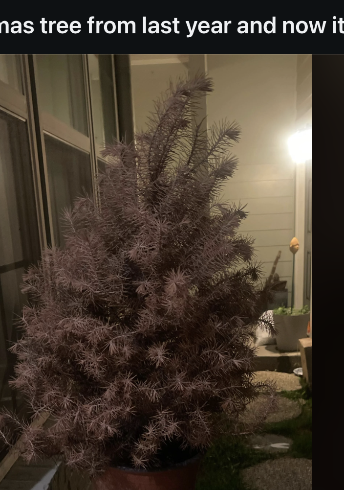
[[[36,55],[50,231],[59,246],[64,245],[64,209],[84,191],[92,192],[92,131],[84,61],[82,54]]]

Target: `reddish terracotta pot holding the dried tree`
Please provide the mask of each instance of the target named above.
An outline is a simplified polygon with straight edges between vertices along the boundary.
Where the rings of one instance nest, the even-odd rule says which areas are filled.
[[[93,490],[194,490],[201,456],[169,469],[146,471],[108,466]]]

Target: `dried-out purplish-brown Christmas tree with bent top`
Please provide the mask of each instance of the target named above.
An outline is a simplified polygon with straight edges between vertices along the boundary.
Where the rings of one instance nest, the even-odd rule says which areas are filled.
[[[202,451],[257,396],[250,341],[268,293],[238,233],[243,207],[219,202],[239,127],[194,122],[211,90],[205,76],[179,82],[135,145],[107,148],[97,199],[76,201],[64,249],[24,277],[35,303],[13,385],[52,417],[32,428],[2,415],[27,461],[159,466],[169,441]]]

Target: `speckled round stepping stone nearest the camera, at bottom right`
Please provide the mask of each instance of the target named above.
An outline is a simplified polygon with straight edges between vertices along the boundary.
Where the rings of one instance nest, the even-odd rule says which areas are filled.
[[[312,460],[278,458],[246,468],[243,481],[256,490],[312,490]]]

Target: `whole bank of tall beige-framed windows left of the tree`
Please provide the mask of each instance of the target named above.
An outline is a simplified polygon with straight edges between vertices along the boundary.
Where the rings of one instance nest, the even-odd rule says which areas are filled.
[[[50,235],[64,245],[63,211],[92,194],[101,149],[117,130],[113,55],[0,54],[0,407],[19,416],[8,348],[29,299],[23,273]],[[4,454],[0,444],[0,462]]]

